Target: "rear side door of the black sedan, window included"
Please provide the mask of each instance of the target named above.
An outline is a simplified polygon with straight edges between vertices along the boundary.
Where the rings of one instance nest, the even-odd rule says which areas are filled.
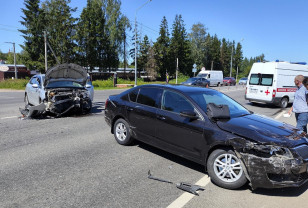
[[[141,87],[130,94],[131,102],[126,106],[127,118],[137,139],[153,143],[156,111],[162,92],[160,88]]]

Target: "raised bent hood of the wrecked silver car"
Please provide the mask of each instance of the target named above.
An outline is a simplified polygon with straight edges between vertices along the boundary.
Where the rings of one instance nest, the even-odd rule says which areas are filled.
[[[85,86],[87,82],[87,71],[83,67],[73,63],[56,65],[47,70],[44,86],[47,86],[50,82],[60,80],[74,81]]]

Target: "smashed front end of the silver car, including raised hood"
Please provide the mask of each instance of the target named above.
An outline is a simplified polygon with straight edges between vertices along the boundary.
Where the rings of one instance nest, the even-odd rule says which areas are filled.
[[[87,72],[76,64],[61,64],[45,75],[45,96],[39,105],[26,104],[20,109],[23,117],[61,117],[69,112],[89,113],[92,108],[89,91],[85,88]]]

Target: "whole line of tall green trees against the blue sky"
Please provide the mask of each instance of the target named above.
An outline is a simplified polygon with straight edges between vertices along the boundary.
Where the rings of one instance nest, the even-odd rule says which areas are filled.
[[[174,75],[176,69],[192,75],[192,66],[207,70],[222,70],[224,75],[238,69],[240,76],[247,76],[255,61],[264,61],[264,55],[244,58],[240,42],[219,39],[208,33],[202,23],[186,31],[181,15],[176,15],[169,31],[166,17],[162,18],[159,36],[155,42],[140,30],[132,31],[129,19],[121,12],[120,0],[87,0],[87,5],[78,18],[73,17],[76,8],[69,6],[70,0],[25,0],[25,8],[19,30],[24,38],[18,60],[29,69],[44,72],[44,31],[47,34],[48,66],[73,62],[93,70],[111,71],[119,66],[128,66],[130,56],[135,63],[135,48],[138,71],[146,71],[153,79],[164,79],[166,73]],[[135,28],[134,28],[135,29]],[[128,49],[128,32],[132,44]],[[135,42],[137,43],[135,47]],[[51,51],[53,49],[53,52]],[[4,55],[4,54],[0,54]],[[249,69],[249,70],[248,70]]]

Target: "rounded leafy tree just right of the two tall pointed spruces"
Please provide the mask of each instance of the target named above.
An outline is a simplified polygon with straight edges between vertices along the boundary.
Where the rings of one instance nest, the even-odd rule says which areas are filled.
[[[204,66],[206,50],[206,28],[204,24],[193,24],[189,34],[192,48],[192,58],[199,68]]]

